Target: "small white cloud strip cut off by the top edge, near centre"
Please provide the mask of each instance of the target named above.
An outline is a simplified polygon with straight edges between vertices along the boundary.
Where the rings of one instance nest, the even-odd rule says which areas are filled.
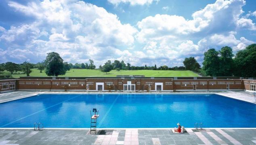
[[[119,4],[119,3],[130,3],[130,5],[144,5],[144,4],[151,4],[153,1],[156,3],[159,0],[107,0],[111,4]]]

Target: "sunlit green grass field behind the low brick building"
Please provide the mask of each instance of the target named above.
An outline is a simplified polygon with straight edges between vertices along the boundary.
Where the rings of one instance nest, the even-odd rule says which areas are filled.
[[[26,76],[14,72],[13,78]],[[10,72],[0,72],[0,76],[10,75]],[[198,77],[193,71],[173,71],[173,70],[112,70],[108,74],[101,72],[99,69],[70,69],[64,75],[65,77],[115,77],[116,75],[145,75],[145,77]],[[44,71],[40,73],[38,69],[32,69],[30,76],[46,76]]]

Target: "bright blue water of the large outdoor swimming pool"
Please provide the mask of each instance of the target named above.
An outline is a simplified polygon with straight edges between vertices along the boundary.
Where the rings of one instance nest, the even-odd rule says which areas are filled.
[[[0,104],[0,127],[89,128],[256,127],[256,105],[211,94],[40,94]]]

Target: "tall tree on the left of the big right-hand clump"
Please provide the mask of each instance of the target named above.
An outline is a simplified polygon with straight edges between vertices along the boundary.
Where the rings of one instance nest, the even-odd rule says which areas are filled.
[[[219,53],[214,48],[204,53],[203,70],[208,76],[218,76]]]

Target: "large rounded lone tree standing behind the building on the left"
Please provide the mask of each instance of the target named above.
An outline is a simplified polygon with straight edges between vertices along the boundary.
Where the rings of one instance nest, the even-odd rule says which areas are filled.
[[[45,73],[47,76],[59,76],[66,74],[63,59],[56,52],[47,53],[45,64]]]

